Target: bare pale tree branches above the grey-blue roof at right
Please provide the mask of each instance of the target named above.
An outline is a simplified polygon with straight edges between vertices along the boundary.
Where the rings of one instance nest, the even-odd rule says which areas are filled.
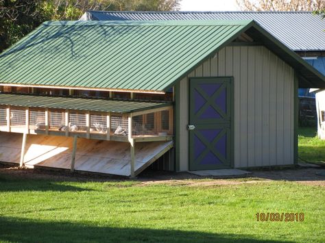
[[[236,0],[244,11],[315,11],[325,8],[324,0]]]

